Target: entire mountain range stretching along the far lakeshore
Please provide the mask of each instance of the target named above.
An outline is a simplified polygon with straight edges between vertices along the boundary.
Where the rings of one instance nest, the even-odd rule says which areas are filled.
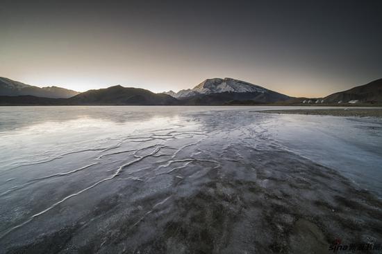
[[[152,93],[122,87],[84,93],[59,87],[33,87],[0,78],[0,105],[333,105],[382,103],[382,79],[324,98],[294,98],[232,78],[204,80],[193,89]]]

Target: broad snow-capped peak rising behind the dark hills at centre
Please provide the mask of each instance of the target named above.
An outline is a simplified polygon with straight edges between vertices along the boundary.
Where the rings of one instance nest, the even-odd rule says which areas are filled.
[[[174,93],[174,91],[165,92],[175,98],[188,98],[197,95],[206,95],[210,93],[266,93],[269,91],[256,84],[235,80],[233,78],[211,78],[204,80],[193,89],[184,89]]]

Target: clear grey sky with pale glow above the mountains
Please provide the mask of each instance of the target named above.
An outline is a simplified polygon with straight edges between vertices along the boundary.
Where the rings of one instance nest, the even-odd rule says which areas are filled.
[[[0,0],[0,76],[154,92],[228,77],[327,96],[382,78],[382,1]]]

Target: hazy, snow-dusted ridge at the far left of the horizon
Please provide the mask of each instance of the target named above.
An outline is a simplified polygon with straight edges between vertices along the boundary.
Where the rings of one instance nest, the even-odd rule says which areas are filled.
[[[0,96],[37,96],[43,98],[70,98],[77,91],[61,87],[34,87],[29,84],[0,77]]]

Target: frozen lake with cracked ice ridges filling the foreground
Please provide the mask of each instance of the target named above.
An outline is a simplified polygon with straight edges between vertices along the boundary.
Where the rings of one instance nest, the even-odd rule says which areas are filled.
[[[282,238],[264,228],[276,205],[283,222],[268,223],[297,227],[289,249],[310,223],[296,224],[303,215],[340,232],[340,217],[356,215],[323,219],[327,207],[340,210],[349,193],[366,202],[364,190],[382,197],[382,120],[258,112],[280,108],[0,107],[0,253],[52,243],[52,253],[267,253]],[[304,200],[312,205],[288,211]],[[214,202],[219,216],[206,210]],[[263,236],[246,239],[256,228]]]

